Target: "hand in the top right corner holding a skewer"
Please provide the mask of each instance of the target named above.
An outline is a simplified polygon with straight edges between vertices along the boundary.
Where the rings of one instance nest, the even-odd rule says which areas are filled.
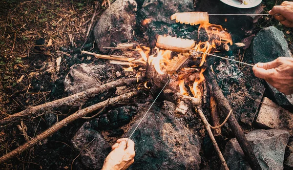
[[[293,2],[284,1],[281,5],[274,6],[269,14],[280,14],[274,18],[287,27],[293,27]]]

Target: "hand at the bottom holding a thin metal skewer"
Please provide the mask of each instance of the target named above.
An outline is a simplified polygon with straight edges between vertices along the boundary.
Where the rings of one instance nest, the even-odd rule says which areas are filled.
[[[106,157],[102,170],[126,170],[134,162],[134,142],[127,138],[118,139]]]

